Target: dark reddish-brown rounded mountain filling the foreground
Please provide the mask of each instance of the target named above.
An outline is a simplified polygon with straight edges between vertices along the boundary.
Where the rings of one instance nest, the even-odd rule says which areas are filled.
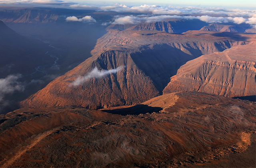
[[[198,92],[165,94],[108,113],[23,108],[0,115],[0,166],[250,167],[254,158],[235,165],[232,156],[255,148],[255,109],[254,102]]]

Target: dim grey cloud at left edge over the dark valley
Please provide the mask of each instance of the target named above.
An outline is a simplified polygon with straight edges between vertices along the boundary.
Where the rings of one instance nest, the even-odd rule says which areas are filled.
[[[24,85],[21,82],[18,82],[22,76],[18,75],[9,75],[6,78],[0,79],[0,102],[4,100],[4,96],[7,94],[12,94],[15,91],[24,91]]]

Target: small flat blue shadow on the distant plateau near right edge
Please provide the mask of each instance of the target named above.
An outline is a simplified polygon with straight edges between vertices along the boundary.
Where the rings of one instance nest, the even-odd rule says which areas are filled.
[[[236,41],[247,41],[248,37],[241,36],[241,34],[255,34],[255,33],[217,32],[217,33],[213,33],[212,36],[228,37],[230,40],[236,40]]]

